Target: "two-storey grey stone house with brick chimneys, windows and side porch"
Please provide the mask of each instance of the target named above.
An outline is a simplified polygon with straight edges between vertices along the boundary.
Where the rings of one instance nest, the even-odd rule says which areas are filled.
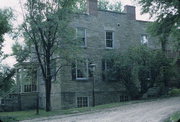
[[[130,100],[120,82],[107,80],[108,74],[104,72],[111,67],[111,62],[105,59],[105,55],[115,51],[123,52],[131,46],[141,44],[152,48],[159,47],[155,44],[156,39],[146,32],[148,22],[136,20],[134,6],[127,5],[124,12],[120,13],[98,10],[97,0],[87,0],[87,3],[87,13],[78,14],[70,23],[70,26],[76,29],[77,38],[81,40],[81,60],[75,60],[72,66],[64,67],[54,79],[56,82],[52,84],[52,109],[88,107]],[[21,67],[17,71],[24,72],[19,69]],[[39,72],[36,74],[34,77],[40,76]],[[17,76],[20,79],[21,77],[23,75]],[[22,109],[35,107],[37,90],[39,105],[45,108],[45,86],[40,77],[37,77],[36,82],[21,82],[20,86],[21,103],[24,104],[21,105]]]

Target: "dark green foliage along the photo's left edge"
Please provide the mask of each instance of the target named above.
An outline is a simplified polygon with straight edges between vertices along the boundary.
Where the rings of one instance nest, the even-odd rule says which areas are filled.
[[[0,9],[0,63],[6,56],[2,52],[4,35],[12,30],[11,19],[13,18],[13,14],[11,9]],[[4,94],[4,92],[8,91],[14,80],[12,76],[14,75],[14,70],[10,69],[7,66],[0,64],[0,95]]]

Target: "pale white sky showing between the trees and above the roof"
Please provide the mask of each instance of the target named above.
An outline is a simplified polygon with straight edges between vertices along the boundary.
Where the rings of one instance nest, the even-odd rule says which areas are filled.
[[[24,2],[25,0],[0,0],[0,9],[10,7],[13,10],[13,13],[16,17],[16,20],[13,22],[14,27],[17,27],[18,25],[20,25],[22,23],[22,20],[23,20],[20,1]],[[136,19],[138,19],[138,20],[149,20],[148,14],[145,14],[145,15],[140,14],[141,7],[136,2],[134,2],[135,0],[109,0],[109,1],[111,3],[120,1],[123,6],[124,5],[136,6]],[[15,40],[12,40],[8,34],[6,34],[4,36],[4,38],[5,38],[5,42],[3,44],[4,45],[3,51],[5,54],[11,54],[12,53],[11,47],[15,43]],[[19,40],[20,40],[20,42],[23,42],[23,38],[20,38]],[[4,60],[2,63],[12,67],[16,63],[16,61],[15,61],[14,57],[9,57],[6,60]]]

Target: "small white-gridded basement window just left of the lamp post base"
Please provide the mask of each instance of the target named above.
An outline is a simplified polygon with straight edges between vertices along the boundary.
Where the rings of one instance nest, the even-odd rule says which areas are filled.
[[[88,107],[88,97],[77,97],[77,107]]]

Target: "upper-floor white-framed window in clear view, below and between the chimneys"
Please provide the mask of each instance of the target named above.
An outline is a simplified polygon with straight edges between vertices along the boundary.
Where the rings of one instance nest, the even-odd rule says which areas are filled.
[[[106,48],[113,48],[113,32],[106,31]]]

